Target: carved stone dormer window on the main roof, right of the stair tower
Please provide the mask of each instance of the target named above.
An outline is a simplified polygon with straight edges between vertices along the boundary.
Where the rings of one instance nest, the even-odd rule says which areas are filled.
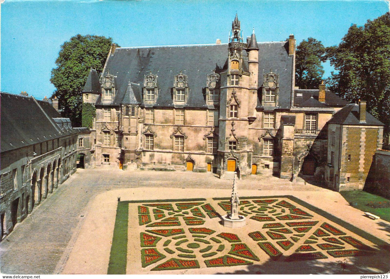
[[[279,75],[271,71],[264,75],[262,84],[262,105],[265,107],[277,107],[279,101]]]

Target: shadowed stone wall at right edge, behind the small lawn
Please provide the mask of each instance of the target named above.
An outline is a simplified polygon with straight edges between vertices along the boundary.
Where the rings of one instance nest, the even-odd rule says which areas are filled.
[[[390,199],[390,151],[376,151],[364,190]]]

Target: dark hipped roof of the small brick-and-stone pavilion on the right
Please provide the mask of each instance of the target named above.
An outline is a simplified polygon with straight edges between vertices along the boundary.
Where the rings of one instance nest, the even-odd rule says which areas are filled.
[[[384,126],[384,124],[374,116],[366,112],[366,122],[359,121],[359,105],[349,104],[336,112],[328,123],[336,123],[343,125],[374,125]]]

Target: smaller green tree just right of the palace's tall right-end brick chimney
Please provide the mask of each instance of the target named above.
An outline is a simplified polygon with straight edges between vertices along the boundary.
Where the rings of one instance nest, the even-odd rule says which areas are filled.
[[[321,62],[325,48],[321,41],[309,37],[296,48],[295,84],[301,89],[318,89],[324,70]]]

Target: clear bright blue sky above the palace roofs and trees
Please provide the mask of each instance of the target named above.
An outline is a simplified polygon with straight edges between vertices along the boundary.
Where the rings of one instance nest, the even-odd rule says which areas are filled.
[[[351,24],[388,11],[385,1],[5,0],[1,5],[1,90],[51,96],[50,72],[64,41],[76,34],[112,37],[120,46],[227,43],[236,12],[244,36],[297,44],[314,37],[339,44]],[[325,76],[330,66],[325,65]]]

